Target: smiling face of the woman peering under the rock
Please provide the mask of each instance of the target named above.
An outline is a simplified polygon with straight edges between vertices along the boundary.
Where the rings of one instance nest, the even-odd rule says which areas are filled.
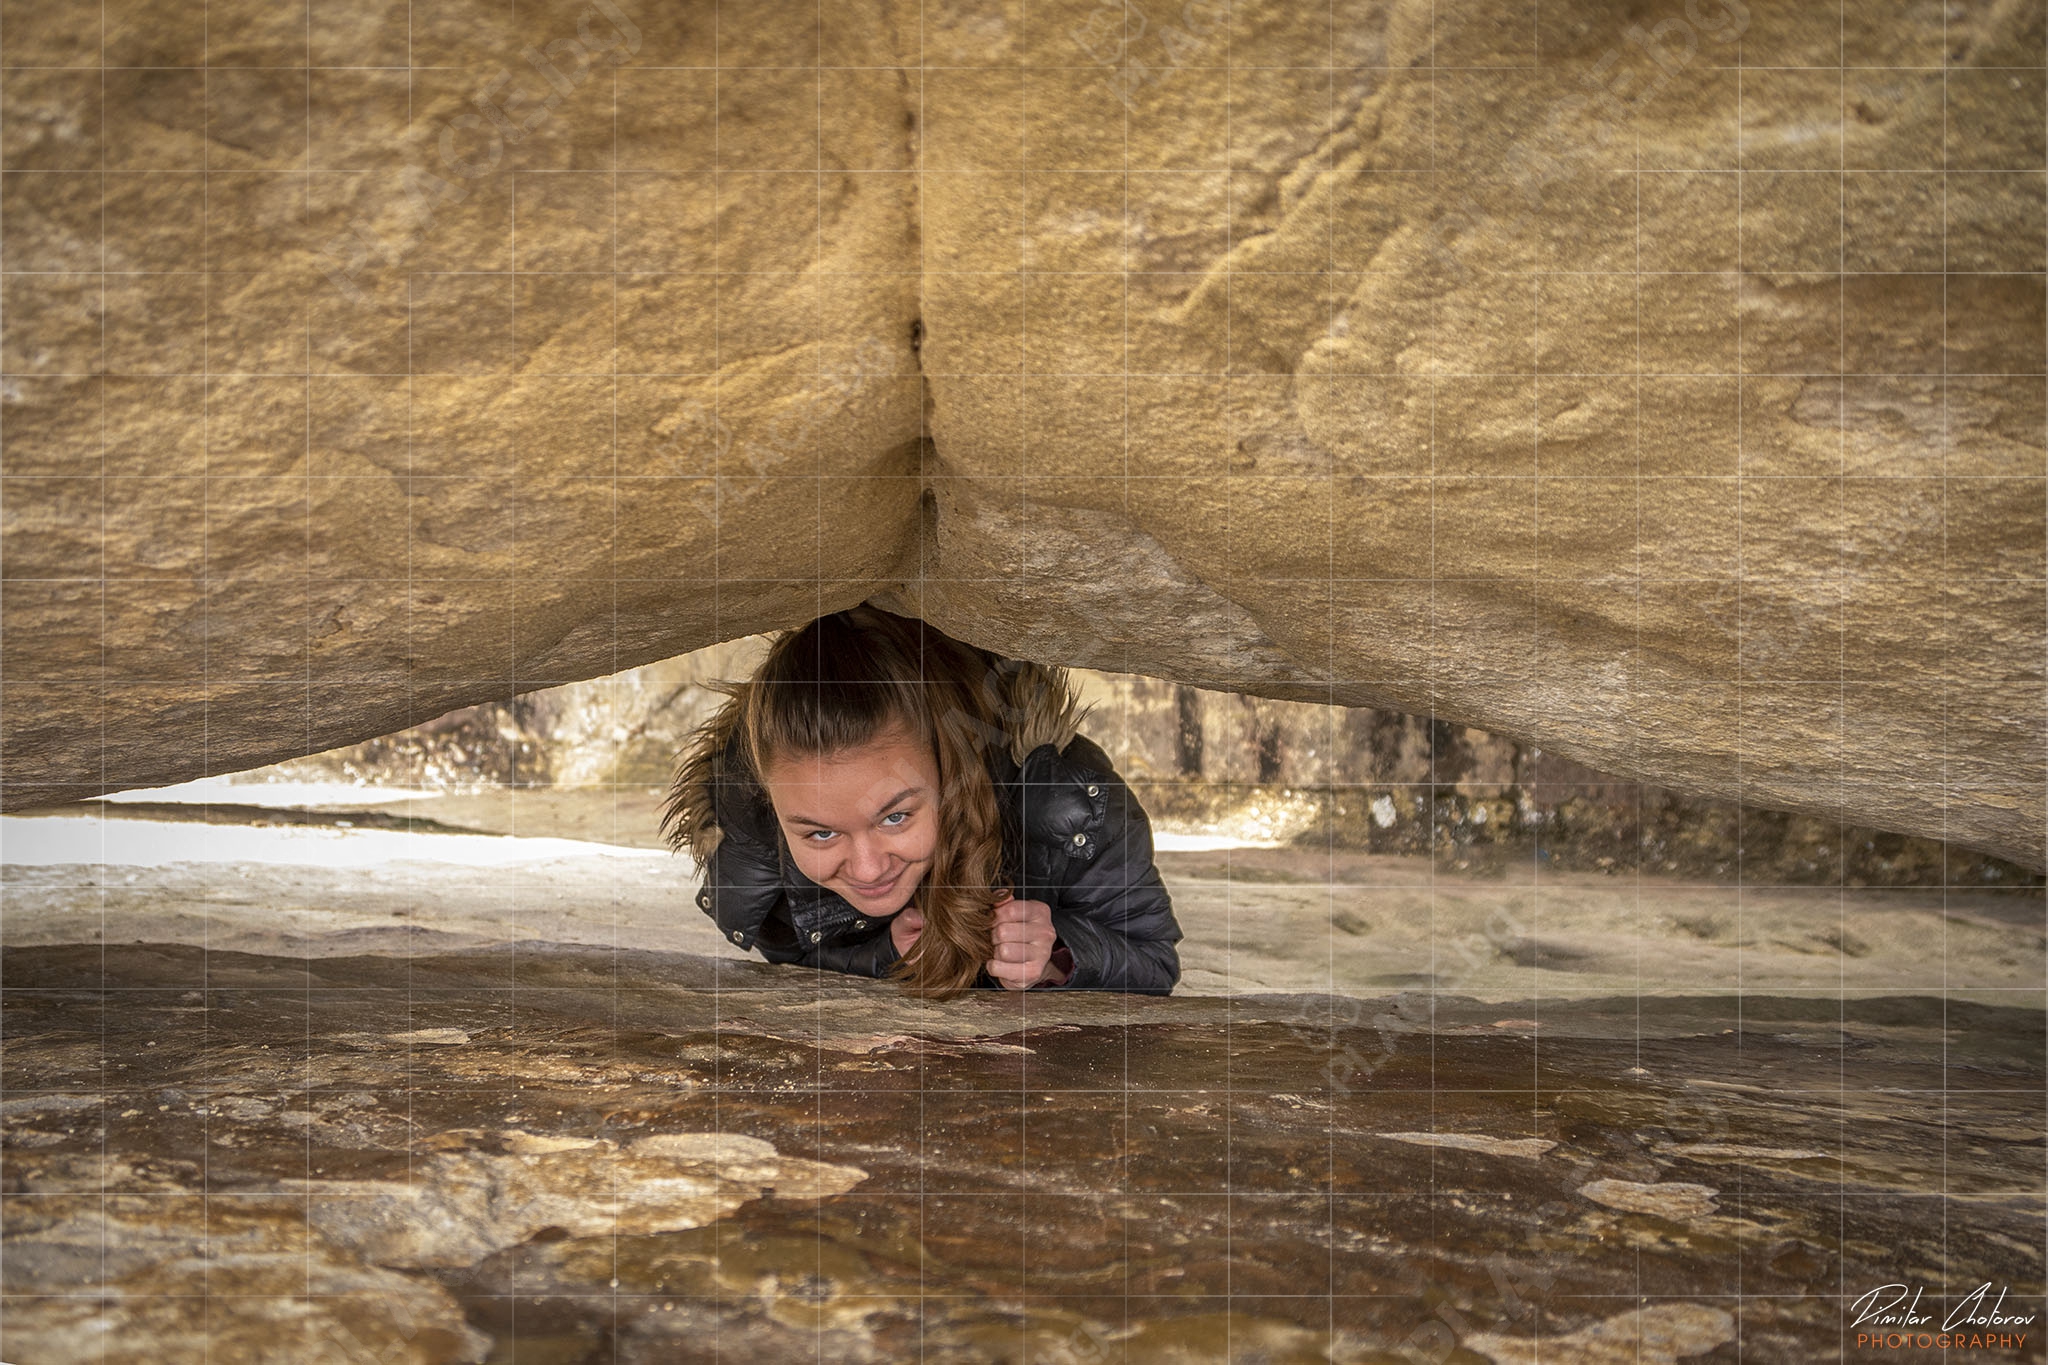
[[[799,872],[874,919],[909,905],[938,849],[938,763],[905,726],[821,757],[778,757],[762,786]]]

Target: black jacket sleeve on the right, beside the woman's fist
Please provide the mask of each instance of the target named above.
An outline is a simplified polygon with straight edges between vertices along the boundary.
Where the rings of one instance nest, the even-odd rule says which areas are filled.
[[[1053,931],[1073,954],[1073,974],[1042,988],[1169,995],[1180,980],[1180,923],[1153,866],[1151,821],[1120,778],[1104,778],[1102,843],[1053,900]]]

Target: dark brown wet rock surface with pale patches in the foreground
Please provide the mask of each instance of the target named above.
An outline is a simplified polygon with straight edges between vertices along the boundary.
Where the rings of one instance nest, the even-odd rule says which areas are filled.
[[[1812,1361],[1880,1283],[2042,1312],[2038,1009],[4,966],[16,1361]]]

